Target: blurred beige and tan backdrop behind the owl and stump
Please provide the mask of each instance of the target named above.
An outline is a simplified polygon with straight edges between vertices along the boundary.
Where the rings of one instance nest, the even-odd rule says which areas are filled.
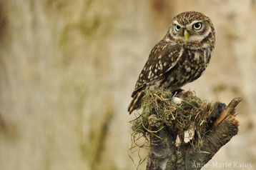
[[[212,161],[256,169],[255,0],[0,0],[0,169],[136,169],[130,95],[183,11],[209,16],[217,33],[206,73],[184,89],[244,99],[239,134]]]

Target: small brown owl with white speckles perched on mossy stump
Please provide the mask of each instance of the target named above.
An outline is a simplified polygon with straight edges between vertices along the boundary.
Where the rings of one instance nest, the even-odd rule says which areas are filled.
[[[177,91],[198,79],[208,66],[214,48],[215,28],[209,17],[197,11],[175,16],[139,74],[129,114],[141,108],[145,89]]]

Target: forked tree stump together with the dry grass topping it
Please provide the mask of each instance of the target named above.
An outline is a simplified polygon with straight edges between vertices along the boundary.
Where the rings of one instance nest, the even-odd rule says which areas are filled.
[[[202,101],[191,91],[145,94],[132,129],[149,140],[147,170],[201,169],[238,132],[235,107],[241,98],[226,106]],[[188,131],[194,134],[185,142]]]

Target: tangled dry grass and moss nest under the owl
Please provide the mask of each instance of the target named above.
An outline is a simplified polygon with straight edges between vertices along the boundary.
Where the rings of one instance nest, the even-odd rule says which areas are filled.
[[[131,121],[134,143],[138,139],[136,136],[139,138],[144,136],[148,141],[149,134],[157,136],[157,132],[165,128],[179,136],[192,129],[194,135],[189,142],[195,147],[202,144],[202,136],[207,131],[210,115],[214,109],[211,102],[203,101],[192,91],[185,91],[174,96],[164,89],[146,90],[144,93],[142,114]],[[181,99],[181,102],[175,102],[173,97]],[[162,127],[155,131],[149,130],[148,118],[152,114],[157,116],[159,120],[157,124],[162,124]]]

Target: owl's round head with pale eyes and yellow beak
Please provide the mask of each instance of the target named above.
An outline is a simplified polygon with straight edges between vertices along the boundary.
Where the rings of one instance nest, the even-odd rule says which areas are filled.
[[[207,38],[215,39],[215,29],[209,17],[197,11],[187,11],[174,17],[169,36],[184,44],[200,43]]]

